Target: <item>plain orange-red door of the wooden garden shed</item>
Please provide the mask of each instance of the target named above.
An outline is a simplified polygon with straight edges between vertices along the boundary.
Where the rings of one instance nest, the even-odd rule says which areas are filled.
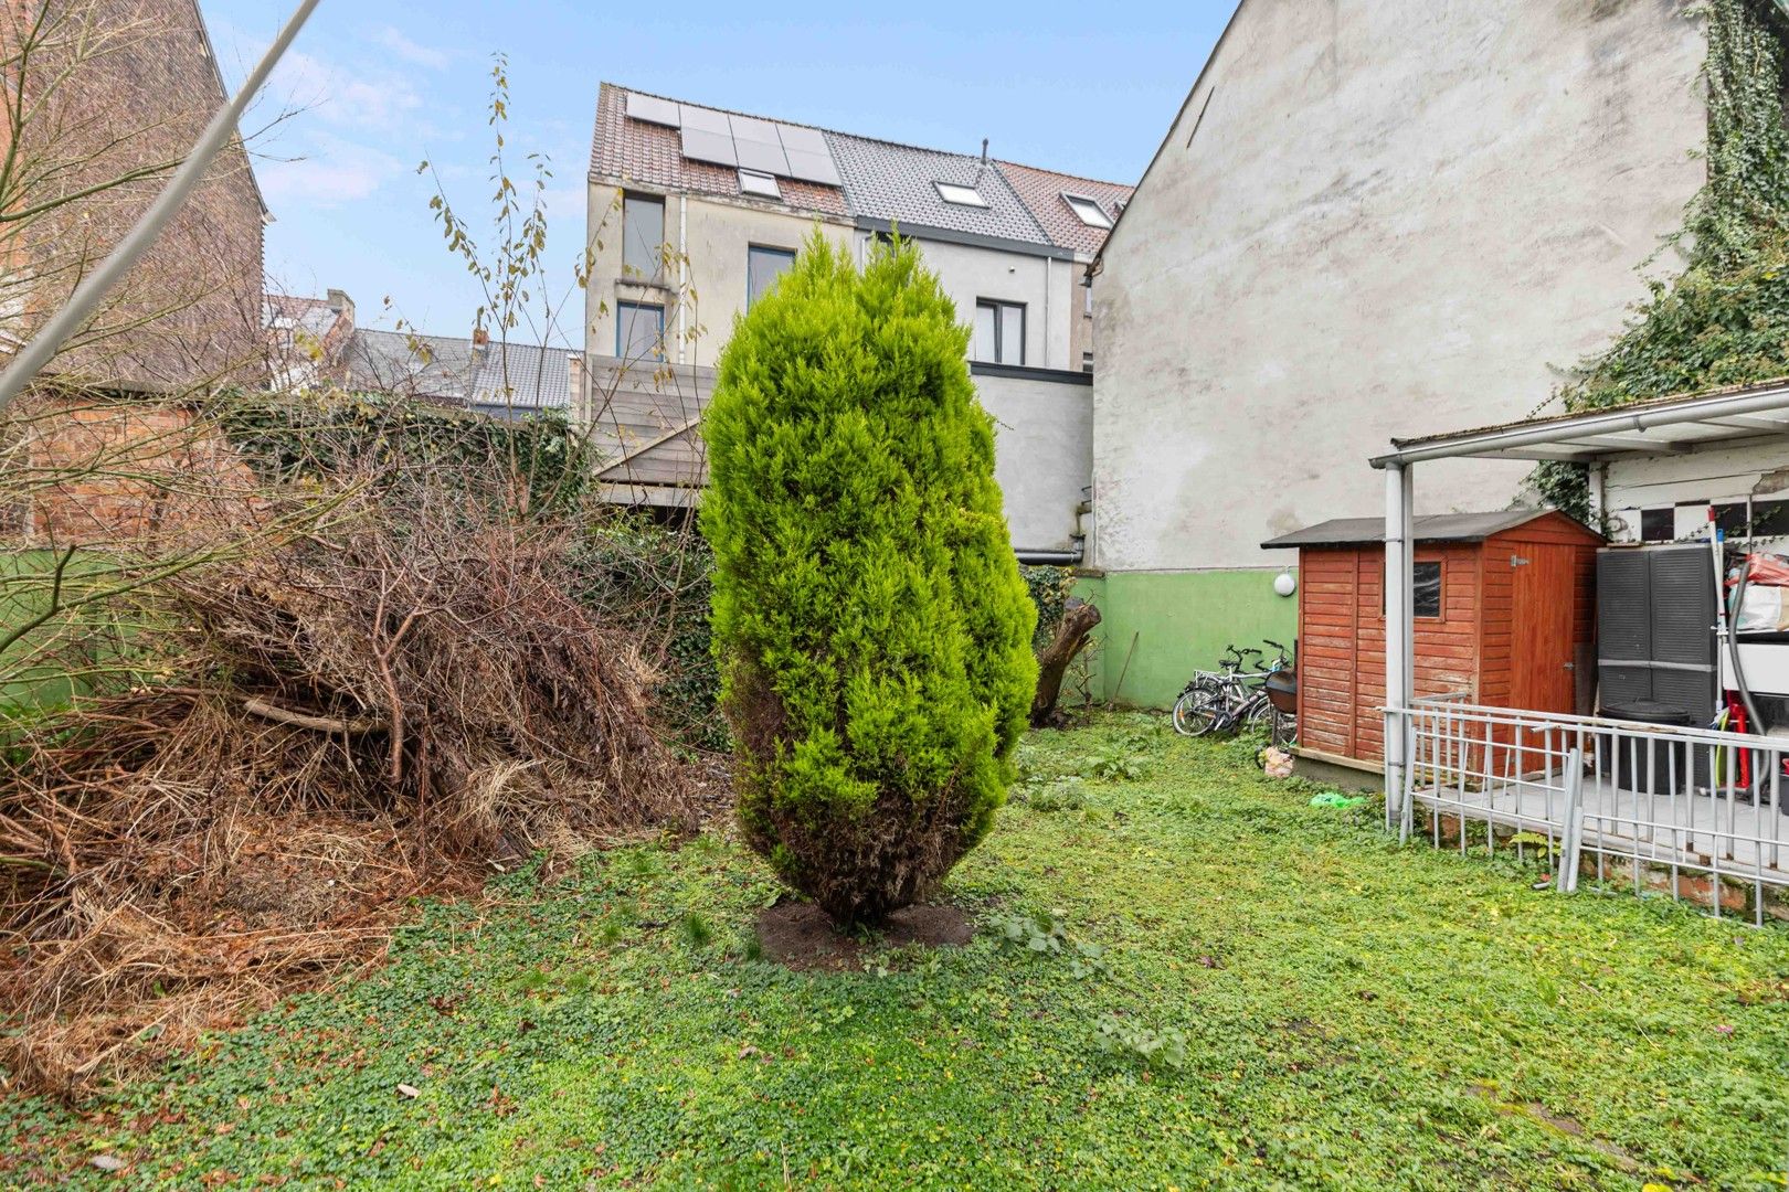
[[[1492,547],[1487,567],[1513,568],[1510,593],[1510,706],[1569,713],[1573,676],[1574,549],[1539,541]]]

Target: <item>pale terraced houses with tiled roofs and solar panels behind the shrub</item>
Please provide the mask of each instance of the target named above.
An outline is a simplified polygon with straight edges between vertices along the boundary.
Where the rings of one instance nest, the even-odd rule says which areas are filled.
[[[733,318],[816,227],[859,261],[898,231],[918,241],[971,329],[1014,547],[1036,559],[1077,556],[1093,457],[1086,268],[1127,197],[1111,182],[998,161],[986,143],[979,154],[921,148],[601,84],[590,384],[626,365],[680,379],[669,409],[639,384],[589,397],[610,479],[646,504],[687,504],[671,490],[703,483],[691,447],[699,395]],[[685,461],[676,475],[648,466],[671,452]]]

